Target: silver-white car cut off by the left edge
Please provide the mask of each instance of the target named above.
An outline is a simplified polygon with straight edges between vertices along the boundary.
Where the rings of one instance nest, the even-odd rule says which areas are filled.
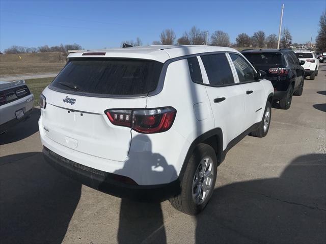
[[[33,103],[24,80],[0,81],[0,134],[29,118]]]

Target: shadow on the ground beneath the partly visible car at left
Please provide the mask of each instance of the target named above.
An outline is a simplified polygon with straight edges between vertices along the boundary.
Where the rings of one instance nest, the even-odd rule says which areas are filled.
[[[21,121],[19,124],[13,126],[7,132],[0,135],[0,145],[20,141],[38,132],[38,120],[40,115],[40,109],[34,107],[30,118]]]

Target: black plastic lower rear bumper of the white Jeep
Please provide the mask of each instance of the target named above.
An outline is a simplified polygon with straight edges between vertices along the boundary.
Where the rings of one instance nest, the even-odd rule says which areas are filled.
[[[179,179],[169,184],[140,186],[132,179],[104,172],[66,159],[43,147],[45,160],[61,173],[101,192],[137,201],[164,201],[178,194]]]

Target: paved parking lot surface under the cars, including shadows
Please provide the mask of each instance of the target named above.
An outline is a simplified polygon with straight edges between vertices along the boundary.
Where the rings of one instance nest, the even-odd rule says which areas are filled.
[[[206,209],[137,203],[61,175],[43,160],[33,116],[0,135],[1,243],[324,243],[326,65],[265,138],[247,136],[219,167]]]

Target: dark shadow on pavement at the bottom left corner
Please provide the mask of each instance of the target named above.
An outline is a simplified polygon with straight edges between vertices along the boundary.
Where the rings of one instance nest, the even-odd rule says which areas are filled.
[[[1,243],[62,243],[81,185],[52,169],[42,153],[0,158]]]

